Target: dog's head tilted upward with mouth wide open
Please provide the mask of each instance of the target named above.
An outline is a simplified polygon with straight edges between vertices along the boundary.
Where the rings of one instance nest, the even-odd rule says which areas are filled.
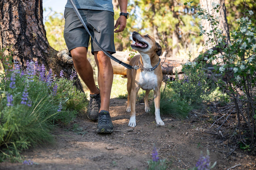
[[[131,48],[142,52],[145,54],[157,54],[158,56],[162,53],[162,47],[150,37],[148,34],[141,35],[138,32],[134,31],[132,33],[132,39],[135,41],[134,44],[131,44]]]

